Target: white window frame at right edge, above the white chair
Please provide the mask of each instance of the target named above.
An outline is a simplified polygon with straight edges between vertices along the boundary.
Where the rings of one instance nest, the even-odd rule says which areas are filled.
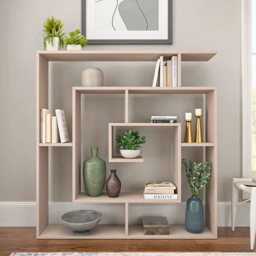
[[[241,0],[241,84],[243,178],[252,178],[252,0]]]

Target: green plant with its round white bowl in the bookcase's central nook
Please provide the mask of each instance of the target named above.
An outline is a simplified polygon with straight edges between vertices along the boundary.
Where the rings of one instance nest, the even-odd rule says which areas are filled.
[[[116,142],[119,143],[117,148],[120,148],[120,154],[124,158],[136,158],[140,155],[140,144],[145,144],[146,136],[140,138],[139,132],[133,132],[127,130],[125,134],[121,137],[119,134],[116,135]]]

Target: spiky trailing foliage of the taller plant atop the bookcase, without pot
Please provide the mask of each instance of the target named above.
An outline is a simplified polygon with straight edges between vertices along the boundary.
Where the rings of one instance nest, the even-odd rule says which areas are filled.
[[[60,47],[63,48],[64,41],[63,36],[65,33],[63,31],[64,23],[60,19],[55,19],[52,17],[47,17],[43,23],[43,30],[40,33],[44,38],[44,51],[46,50],[46,42],[52,44],[53,47],[53,37],[60,38]]]

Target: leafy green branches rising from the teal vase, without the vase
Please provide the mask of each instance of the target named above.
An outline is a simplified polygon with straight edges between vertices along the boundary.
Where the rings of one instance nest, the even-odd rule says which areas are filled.
[[[191,187],[192,196],[197,196],[199,191],[204,188],[206,180],[210,179],[210,172],[207,172],[210,163],[200,163],[189,161],[189,164],[185,161],[186,159],[181,159],[181,164],[185,168],[186,176],[188,178],[188,184]]]

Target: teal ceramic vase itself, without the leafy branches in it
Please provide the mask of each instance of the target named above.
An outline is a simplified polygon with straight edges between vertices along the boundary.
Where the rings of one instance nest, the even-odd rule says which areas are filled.
[[[203,204],[197,196],[191,196],[187,201],[185,227],[193,234],[199,234],[204,230]]]

